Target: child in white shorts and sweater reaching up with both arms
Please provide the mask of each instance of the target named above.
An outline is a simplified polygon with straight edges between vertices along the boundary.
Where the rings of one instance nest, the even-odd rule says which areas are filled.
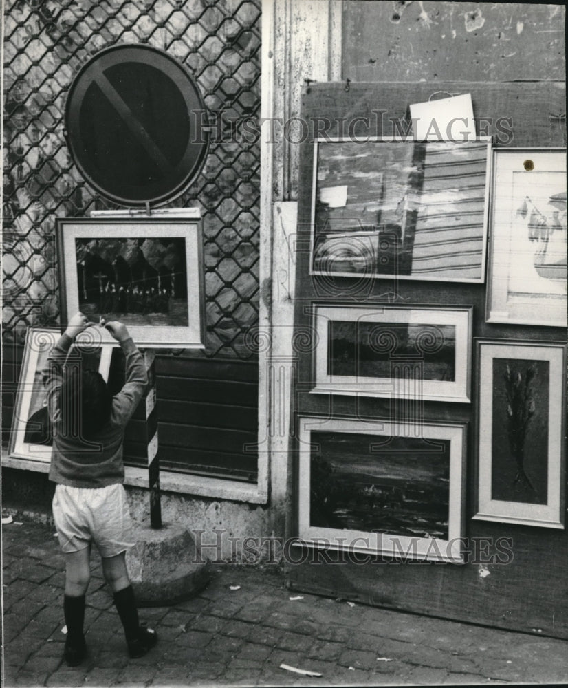
[[[53,515],[65,555],[64,657],[69,666],[80,664],[87,653],[83,620],[93,542],[101,555],[102,572],[113,592],[130,656],[142,657],[157,641],[155,631],[138,622],[125,563],[126,550],[135,543],[122,485],[122,441],[124,427],[144,392],[146,369],[127,328],[116,321],[105,327],[126,357],[126,381],[120,392],[111,396],[98,372],[81,370],[77,359],[72,365],[67,354],[75,337],[93,324],[82,313],[74,315],[43,371],[54,434],[50,466],[50,480],[56,482]]]

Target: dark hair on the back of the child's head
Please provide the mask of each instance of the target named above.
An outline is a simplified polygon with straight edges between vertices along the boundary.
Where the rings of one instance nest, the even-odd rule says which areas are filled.
[[[81,366],[66,366],[59,392],[63,434],[90,438],[107,424],[112,394],[102,375]]]

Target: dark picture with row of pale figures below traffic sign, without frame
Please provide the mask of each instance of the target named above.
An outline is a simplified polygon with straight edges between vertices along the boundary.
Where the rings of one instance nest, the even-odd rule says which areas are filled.
[[[183,237],[76,239],[80,310],[98,322],[188,325]]]

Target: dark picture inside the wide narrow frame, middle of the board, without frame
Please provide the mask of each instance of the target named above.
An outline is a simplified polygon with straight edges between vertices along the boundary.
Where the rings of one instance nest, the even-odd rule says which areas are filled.
[[[455,380],[455,325],[329,321],[327,374],[390,378],[393,361],[413,360],[423,380]]]

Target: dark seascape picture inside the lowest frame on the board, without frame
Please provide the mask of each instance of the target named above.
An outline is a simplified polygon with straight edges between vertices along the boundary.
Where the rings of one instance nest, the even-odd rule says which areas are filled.
[[[310,526],[448,539],[450,440],[312,431],[310,441]]]

